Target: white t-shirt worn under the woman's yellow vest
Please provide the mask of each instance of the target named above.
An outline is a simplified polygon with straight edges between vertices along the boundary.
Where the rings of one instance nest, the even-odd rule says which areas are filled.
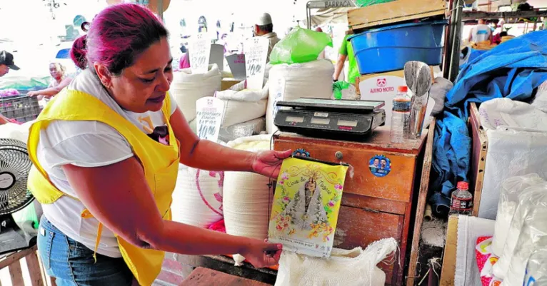
[[[69,89],[84,91],[99,98],[109,108],[139,127],[144,133],[161,143],[167,143],[164,136],[166,122],[161,111],[133,113],[122,109],[101,85],[99,78],[90,70],[82,71]],[[176,110],[176,101],[171,97],[171,114]],[[169,132],[169,131],[168,131]],[[169,143],[167,143],[169,144]],[[66,179],[62,165],[99,167],[126,160],[133,156],[131,145],[114,128],[99,121],[53,121],[40,132],[37,157],[51,183],[67,195],[78,198]],[[124,202],[120,202],[123,207]],[[54,203],[43,205],[44,215],[61,232],[94,250],[99,221],[95,218],[81,218],[84,205],[66,195]],[[103,228],[97,252],[109,257],[121,257],[114,233]]]

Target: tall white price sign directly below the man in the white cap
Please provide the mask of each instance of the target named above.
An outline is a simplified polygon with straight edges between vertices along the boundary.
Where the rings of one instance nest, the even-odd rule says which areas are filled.
[[[262,89],[269,46],[270,41],[264,37],[251,38],[244,44],[247,88],[249,89]]]

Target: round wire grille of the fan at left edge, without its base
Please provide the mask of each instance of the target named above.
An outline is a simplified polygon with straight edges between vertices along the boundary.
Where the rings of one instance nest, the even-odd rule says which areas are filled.
[[[0,139],[0,215],[14,213],[32,202],[26,188],[32,162],[26,144]]]

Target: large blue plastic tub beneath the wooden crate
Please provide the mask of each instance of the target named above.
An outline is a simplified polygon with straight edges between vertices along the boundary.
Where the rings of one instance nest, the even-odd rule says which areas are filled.
[[[361,74],[404,68],[407,61],[441,64],[448,21],[398,24],[348,37]]]

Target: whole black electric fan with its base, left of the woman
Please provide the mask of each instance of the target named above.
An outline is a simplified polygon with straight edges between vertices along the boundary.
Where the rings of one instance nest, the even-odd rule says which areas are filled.
[[[32,162],[26,144],[0,139],[0,253],[21,250],[36,244],[36,231],[14,221],[15,213],[29,205],[34,197],[26,188]]]

